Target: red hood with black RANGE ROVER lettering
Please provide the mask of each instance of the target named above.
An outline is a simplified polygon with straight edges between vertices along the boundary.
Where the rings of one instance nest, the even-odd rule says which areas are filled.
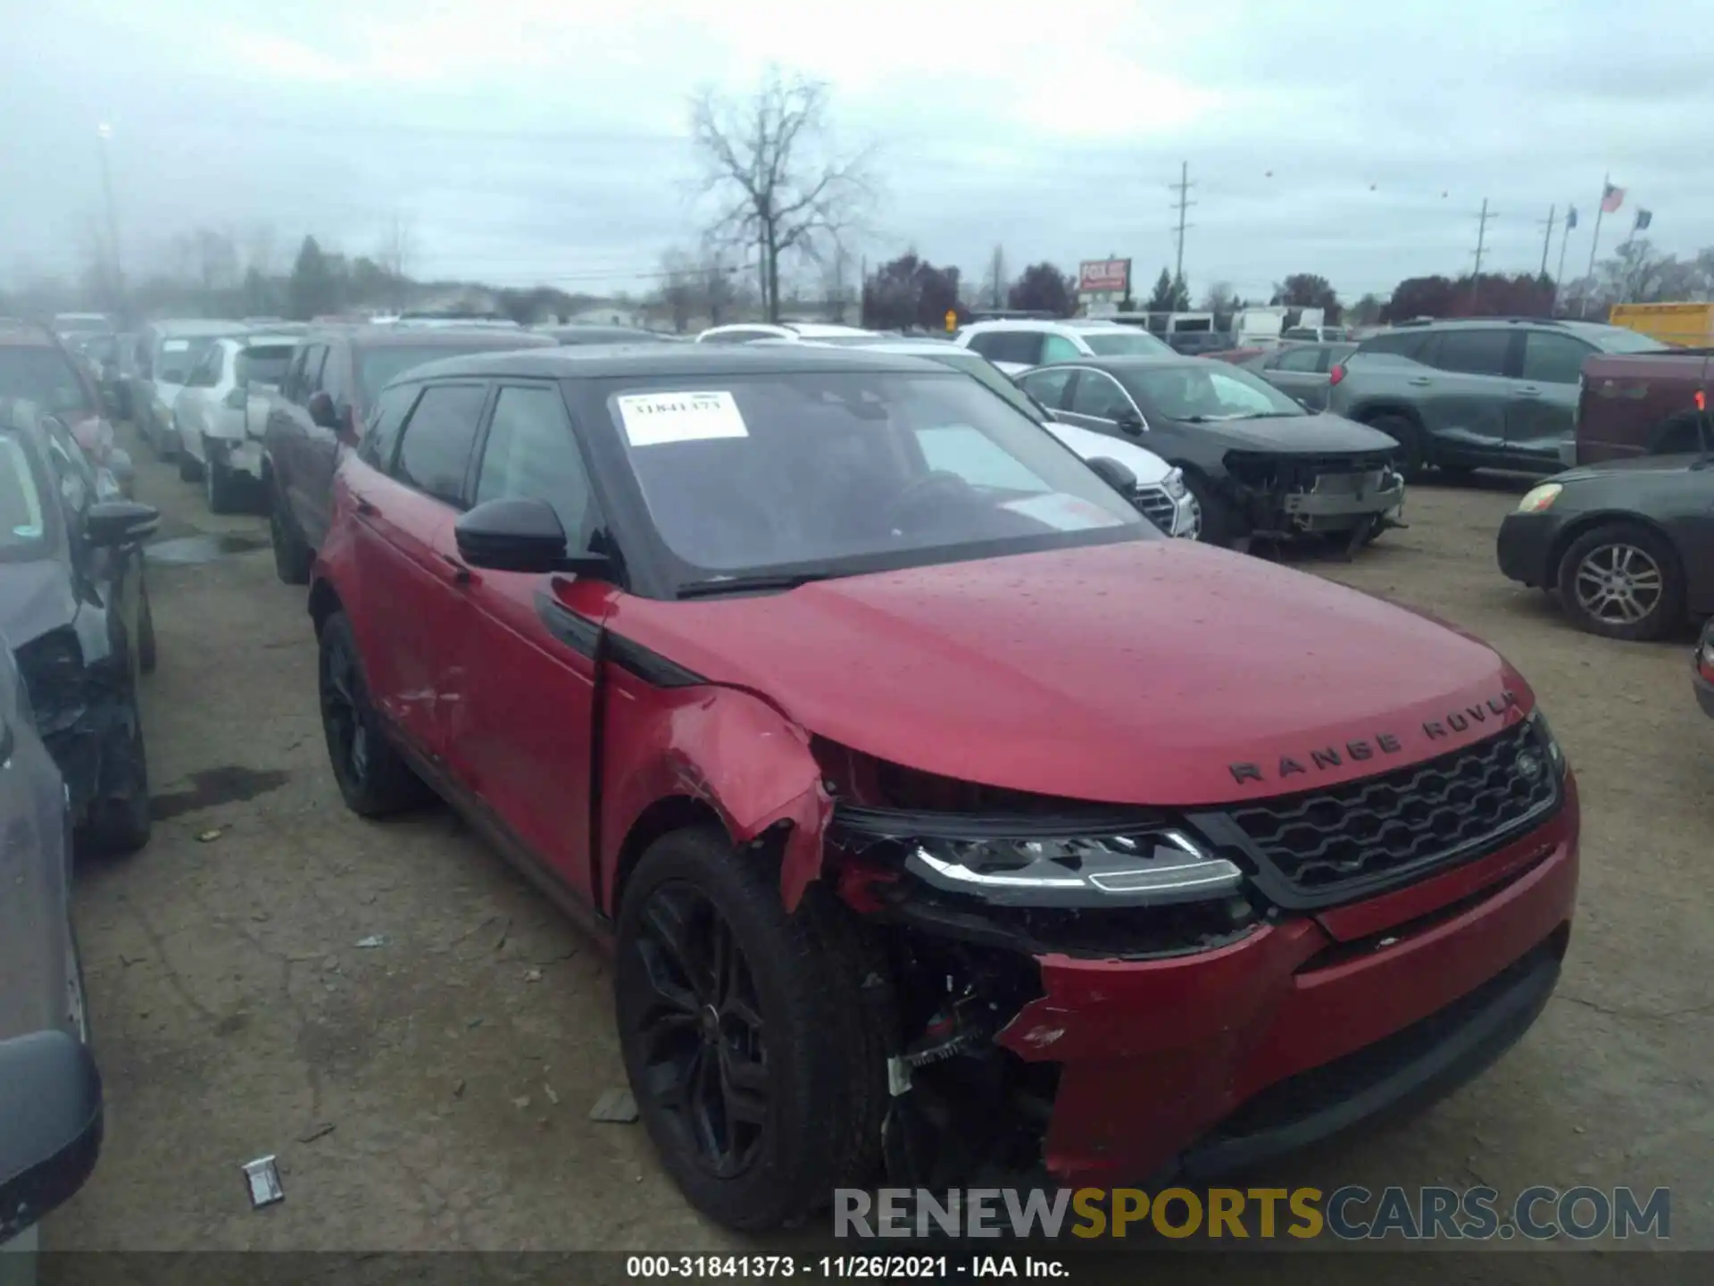
[[[1532,705],[1479,640],[1188,540],[723,600],[619,598],[608,624],[866,754],[1102,802],[1207,804],[1349,780],[1476,741]],[[1339,763],[1313,765],[1318,749]],[[1282,778],[1282,758],[1303,775]],[[1234,765],[1256,765],[1262,780]]]

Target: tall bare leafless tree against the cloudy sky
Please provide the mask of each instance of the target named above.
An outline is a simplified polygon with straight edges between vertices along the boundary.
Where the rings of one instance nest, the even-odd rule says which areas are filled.
[[[746,103],[713,89],[691,105],[691,132],[704,165],[704,194],[725,209],[710,231],[756,247],[763,315],[780,319],[783,255],[821,257],[872,201],[869,154],[835,154],[828,87],[771,69]]]

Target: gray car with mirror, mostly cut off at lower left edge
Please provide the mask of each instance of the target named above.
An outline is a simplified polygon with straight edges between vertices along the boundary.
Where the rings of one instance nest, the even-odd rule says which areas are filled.
[[[70,919],[70,802],[0,640],[0,1279],[101,1147],[101,1080]],[[22,1252],[21,1257],[14,1259]]]

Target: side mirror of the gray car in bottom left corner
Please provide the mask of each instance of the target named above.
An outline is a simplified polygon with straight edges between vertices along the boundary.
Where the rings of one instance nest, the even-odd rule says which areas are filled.
[[[82,1041],[45,1031],[0,1041],[0,1085],[9,1099],[0,1113],[3,1247],[70,1200],[94,1171],[101,1154],[101,1073]]]

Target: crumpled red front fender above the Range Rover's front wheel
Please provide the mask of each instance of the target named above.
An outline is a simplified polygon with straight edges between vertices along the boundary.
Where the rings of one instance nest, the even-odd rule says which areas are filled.
[[[626,837],[651,804],[689,797],[708,804],[734,844],[783,826],[780,897],[787,910],[821,874],[833,801],[809,734],[754,693],[718,684],[653,688],[631,674],[610,679],[603,748],[602,886],[615,888]]]

